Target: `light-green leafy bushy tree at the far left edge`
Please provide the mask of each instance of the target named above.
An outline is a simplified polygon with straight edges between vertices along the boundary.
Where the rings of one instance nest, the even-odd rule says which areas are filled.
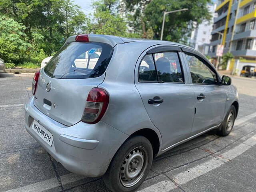
[[[25,29],[12,18],[0,16],[0,58],[4,62],[18,64],[29,58],[33,46],[23,32]]]

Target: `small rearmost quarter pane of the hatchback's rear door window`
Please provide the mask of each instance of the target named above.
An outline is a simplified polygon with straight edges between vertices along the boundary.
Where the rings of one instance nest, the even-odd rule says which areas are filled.
[[[156,68],[152,54],[146,55],[140,63],[139,82],[157,82]]]

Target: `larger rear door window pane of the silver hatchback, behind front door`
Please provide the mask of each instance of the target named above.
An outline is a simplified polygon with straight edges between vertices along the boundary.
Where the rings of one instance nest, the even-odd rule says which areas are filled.
[[[177,52],[162,52],[153,54],[153,56],[160,82],[184,82]]]

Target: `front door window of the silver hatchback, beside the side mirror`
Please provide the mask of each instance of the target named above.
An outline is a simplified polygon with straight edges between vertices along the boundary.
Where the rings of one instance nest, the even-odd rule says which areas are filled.
[[[199,58],[185,53],[193,84],[217,84],[216,74]]]

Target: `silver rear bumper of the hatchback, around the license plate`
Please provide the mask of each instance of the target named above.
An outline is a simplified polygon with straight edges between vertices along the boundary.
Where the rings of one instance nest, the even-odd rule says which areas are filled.
[[[33,103],[33,97],[25,105],[26,130],[38,143],[67,170],[89,177],[102,176],[112,157],[128,138],[104,122],[86,124],[78,122],[65,126],[46,116]],[[33,120],[40,122],[53,134],[52,146],[44,142],[31,128]]]

